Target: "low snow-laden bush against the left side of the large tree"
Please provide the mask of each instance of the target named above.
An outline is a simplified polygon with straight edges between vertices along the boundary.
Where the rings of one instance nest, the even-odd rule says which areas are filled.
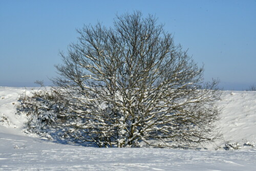
[[[67,112],[67,106],[60,97],[58,92],[52,89],[26,90],[20,95],[16,114],[27,115],[26,132],[52,139],[51,132],[55,132],[55,126],[66,118],[63,114]]]

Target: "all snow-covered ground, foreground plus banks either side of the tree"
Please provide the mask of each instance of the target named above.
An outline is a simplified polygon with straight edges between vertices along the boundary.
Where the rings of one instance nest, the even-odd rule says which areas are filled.
[[[223,139],[194,151],[93,148],[31,137],[22,132],[26,119],[15,115],[24,91],[0,87],[0,170],[256,170],[256,148],[250,145],[256,142],[256,92],[224,91]],[[241,149],[225,151],[227,142]]]

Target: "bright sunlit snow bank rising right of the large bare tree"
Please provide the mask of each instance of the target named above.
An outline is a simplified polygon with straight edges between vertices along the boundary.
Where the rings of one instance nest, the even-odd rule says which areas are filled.
[[[224,91],[220,105],[224,140],[256,141],[256,91]]]

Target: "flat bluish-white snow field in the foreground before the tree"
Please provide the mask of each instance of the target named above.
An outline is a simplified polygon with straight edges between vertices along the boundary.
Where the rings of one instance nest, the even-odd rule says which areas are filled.
[[[93,148],[0,133],[0,170],[253,170],[256,151]],[[245,169],[246,168],[246,169]]]

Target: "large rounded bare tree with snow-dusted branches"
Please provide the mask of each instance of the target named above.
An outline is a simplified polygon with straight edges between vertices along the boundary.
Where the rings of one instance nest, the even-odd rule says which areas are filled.
[[[99,147],[193,146],[214,140],[217,81],[175,45],[152,15],[117,16],[77,30],[54,79],[73,120],[59,125],[78,142]]]

